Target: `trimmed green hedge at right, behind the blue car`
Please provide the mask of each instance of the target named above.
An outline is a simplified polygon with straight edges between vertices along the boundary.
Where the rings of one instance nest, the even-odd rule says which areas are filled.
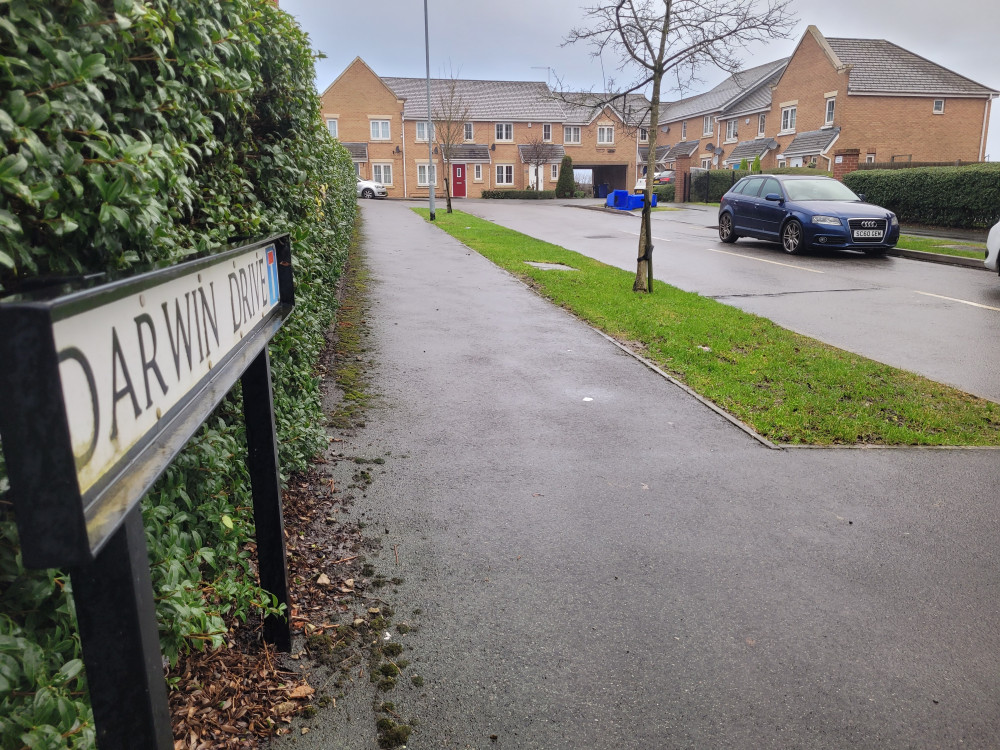
[[[984,229],[1000,221],[1000,164],[859,170],[844,184],[901,222]]]

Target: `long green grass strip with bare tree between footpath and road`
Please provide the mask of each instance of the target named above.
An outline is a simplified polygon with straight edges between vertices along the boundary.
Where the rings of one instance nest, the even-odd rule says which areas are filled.
[[[1000,445],[1000,404],[664,283],[635,294],[633,273],[469,214],[435,225],[776,443]]]

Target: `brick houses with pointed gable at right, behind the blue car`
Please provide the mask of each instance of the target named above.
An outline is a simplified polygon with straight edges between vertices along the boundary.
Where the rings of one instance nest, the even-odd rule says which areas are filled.
[[[868,162],[985,158],[997,91],[882,39],[827,39],[815,26],[791,57],[665,105],[664,164],[842,173]],[[681,162],[675,160],[680,157]]]

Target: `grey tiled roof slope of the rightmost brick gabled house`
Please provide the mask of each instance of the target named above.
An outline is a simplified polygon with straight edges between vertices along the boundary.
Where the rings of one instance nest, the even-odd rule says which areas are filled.
[[[989,96],[997,91],[884,39],[827,39],[851,66],[851,93]]]

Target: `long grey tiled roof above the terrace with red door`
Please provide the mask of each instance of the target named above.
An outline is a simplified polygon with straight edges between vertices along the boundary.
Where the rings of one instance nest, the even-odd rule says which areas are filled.
[[[427,119],[427,79],[386,78],[382,80],[396,96],[405,99],[404,120]],[[431,110],[448,106],[454,85],[460,108],[468,109],[470,121],[562,122],[563,108],[549,87],[537,81],[467,81],[432,78]]]

